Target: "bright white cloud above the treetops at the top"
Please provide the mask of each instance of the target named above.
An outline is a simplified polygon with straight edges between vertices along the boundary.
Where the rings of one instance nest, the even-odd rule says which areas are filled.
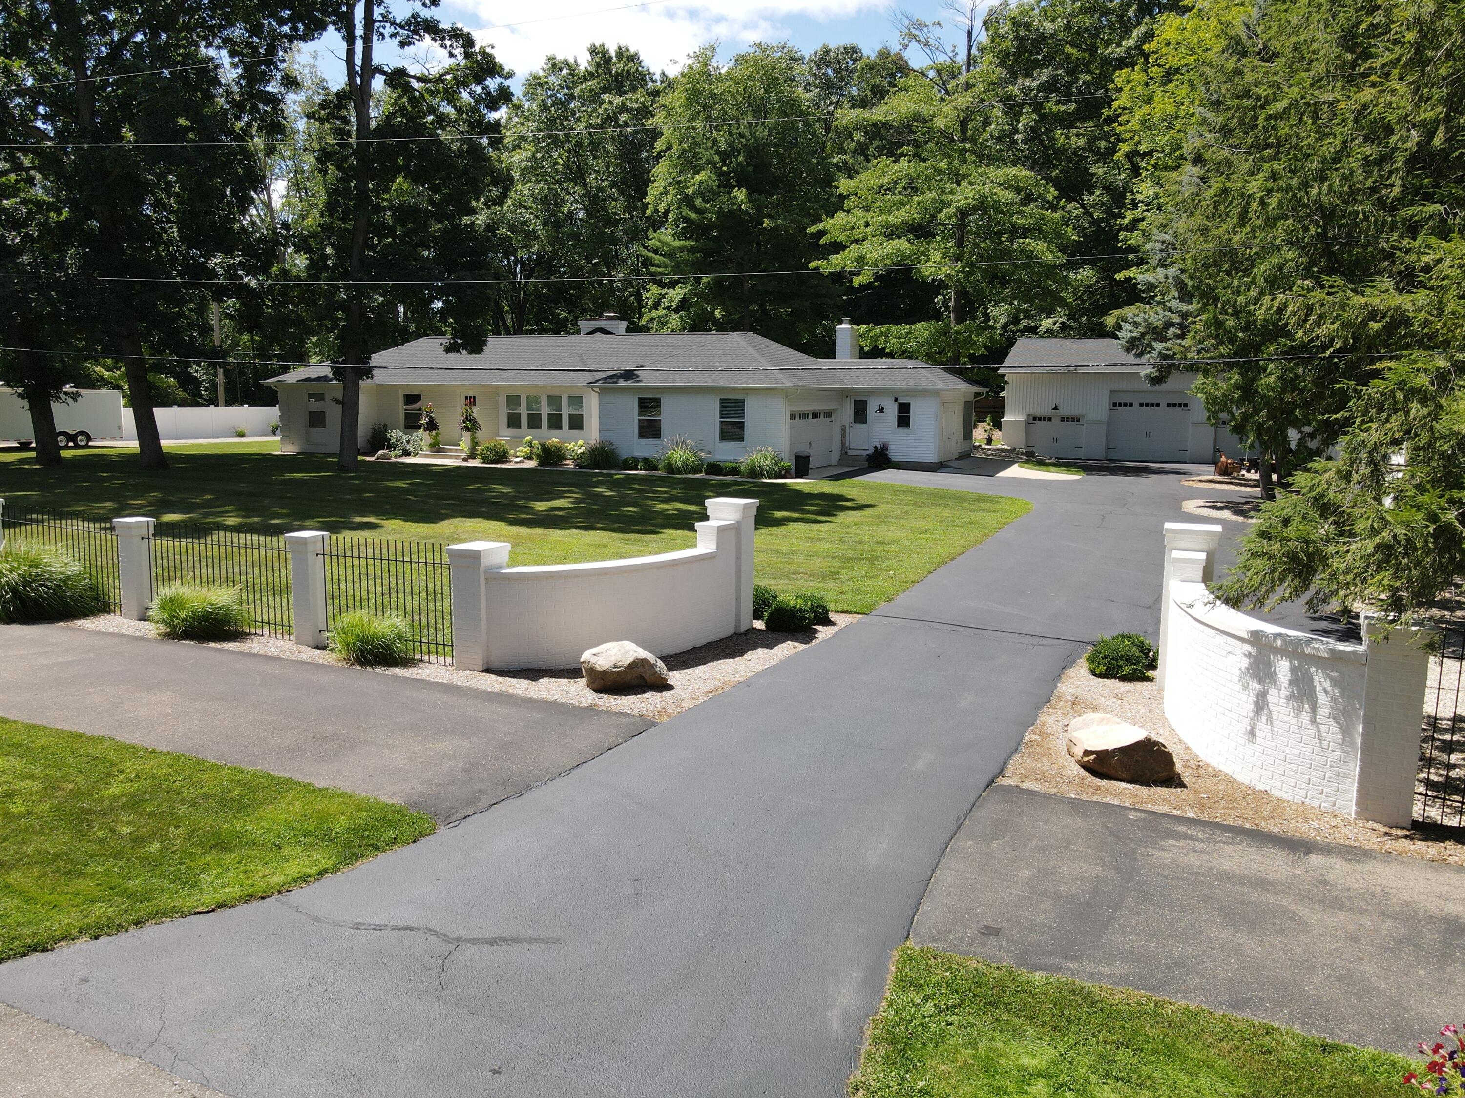
[[[708,42],[738,48],[756,41],[782,41],[790,37],[790,18],[826,22],[888,6],[889,0],[674,0],[605,10],[614,7],[614,0],[541,0],[532,7],[459,0],[461,22],[494,28],[475,29],[475,35],[479,42],[492,44],[498,59],[519,76],[538,69],[549,54],[583,60],[592,42],[630,45],[652,70],[675,72],[687,54]],[[504,18],[507,12],[514,15]]]

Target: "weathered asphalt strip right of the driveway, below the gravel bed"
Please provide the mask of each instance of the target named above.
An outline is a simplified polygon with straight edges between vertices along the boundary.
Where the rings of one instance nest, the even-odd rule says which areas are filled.
[[[919,946],[1408,1054],[1459,1012],[1465,870],[998,785]]]

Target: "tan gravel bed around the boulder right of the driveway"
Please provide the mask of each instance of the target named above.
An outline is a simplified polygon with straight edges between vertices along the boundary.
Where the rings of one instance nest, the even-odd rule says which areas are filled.
[[[1074,717],[1097,712],[1113,713],[1163,741],[1175,755],[1179,780],[1135,786],[1096,777],[1080,767],[1064,748],[1064,733]],[[1285,801],[1238,782],[1231,774],[1203,763],[1175,733],[1165,719],[1159,684],[1096,679],[1081,659],[1064,672],[1053,697],[1037,714],[1037,723],[1027,731],[1023,745],[998,780],[1059,796],[1108,801],[1131,808],[1256,827],[1273,834],[1348,843],[1370,851],[1465,865],[1465,843],[1424,832],[1354,820],[1323,808]]]

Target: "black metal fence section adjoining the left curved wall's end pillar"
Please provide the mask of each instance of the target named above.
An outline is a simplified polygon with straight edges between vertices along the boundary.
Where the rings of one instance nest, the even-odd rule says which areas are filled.
[[[451,663],[453,589],[447,546],[333,534],[325,543],[327,630],[353,610],[404,619],[412,627],[419,659]]]

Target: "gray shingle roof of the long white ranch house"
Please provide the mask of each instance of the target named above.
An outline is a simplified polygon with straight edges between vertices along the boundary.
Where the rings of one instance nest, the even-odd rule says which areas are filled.
[[[752,332],[500,335],[479,354],[450,354],[447,340],[415,340],[372,356],[374,379],[401,385],[715,385],[718,388],[961,389],[949,370],[905,359],[813,359]],[[328,366],[270,382],[322,384]]]

